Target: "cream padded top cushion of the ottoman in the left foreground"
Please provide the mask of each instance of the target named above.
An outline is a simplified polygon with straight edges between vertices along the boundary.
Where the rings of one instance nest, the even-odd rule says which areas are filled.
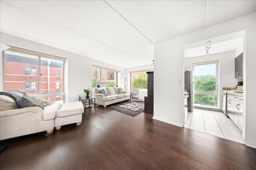
[[[64,103],[56,113],[56,117],[67,117],[84,113],[82,102]]]

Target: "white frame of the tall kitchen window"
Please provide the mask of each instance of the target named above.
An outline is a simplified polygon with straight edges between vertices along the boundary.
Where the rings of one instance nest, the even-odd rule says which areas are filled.
[[[205,61],[205,62],[199,62],[199,63],[192,63],[192,70],[194,72],[194,66],[200,66],[200,65],[208,65],[208,64],[216,64],[216,78],[215,78],[215,91],[196,91],[194,90],[194,84],[193,84],[193,101],[195,102],[194,95],[199,94],[199,95],[214,95],[217,96],[217,106],[205,106],[205,105],[198,105],[194,104],[194,106],[197,107],[210,107],[210,108],[219,108],[219,102],[220,102],[220,95],[219,95],[219,65],[220,61]],[[194,75],[193,75],[193,83],[194,83]]]

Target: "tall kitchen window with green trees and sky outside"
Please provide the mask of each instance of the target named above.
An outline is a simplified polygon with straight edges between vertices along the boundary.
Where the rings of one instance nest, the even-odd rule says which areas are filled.
[[[218,107],[218,61],[193,63],[195,106]]]

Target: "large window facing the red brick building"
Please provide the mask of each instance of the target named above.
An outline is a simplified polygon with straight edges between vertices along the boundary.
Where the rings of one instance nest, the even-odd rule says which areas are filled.
[[[16,47],[3,54],[4,90],[20,90],[52,102],[61,96],[57,99],[64,102],[64,58]]]

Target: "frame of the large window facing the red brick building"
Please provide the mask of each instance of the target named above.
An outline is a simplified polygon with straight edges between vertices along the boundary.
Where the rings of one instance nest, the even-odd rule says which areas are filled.
[[[66,91],[65,90],[65,88],[66,88],[66,86],[65,86],[65,84],[66,84],[66,61],[67,61],[67,59],[64,58],[64,57],[58,57],[58,56],[54,56],[54,55],[50,55],[50,54],[46,54],[46,53],[40,53],[40,52],[37,52],[37,51],[31,51],[31,50],[22,49],[22,48],[19,48],[19,47],[13,47],[11,45],[8,45],[8,46],[10,46],[11,48],[7,49],[7,50],[4,50],[4,51],[13,51],[13,52],[18,52],[18,53],[38,56],[38,74],[36,75],[36,76],[38,76],[38,88],[37,88],[38,93],[34,93],[33,95],[36,95],[40,98],[53,97],[53,96],[64,96],[64,103],[65,103],[65,100],[66,100],[66,97],[65,97],[65,91]],[[1,89],[2,90],[4,90],[4,55],[5,55],[4,51],[1,52],[2,53],[1,60],[2,60],[2,68],[3,68],[3,71],[2,71],[2,80],[3,81],[2,81],[2,84],[1,84]],[[63,92],[41,93],[41,76],[40,76],[41,75],[41,57],[63,61]],[[25,74],[25,75],[28,75],[28,74]],[[25,84],[25,89],[26,89],[26,84]]]

